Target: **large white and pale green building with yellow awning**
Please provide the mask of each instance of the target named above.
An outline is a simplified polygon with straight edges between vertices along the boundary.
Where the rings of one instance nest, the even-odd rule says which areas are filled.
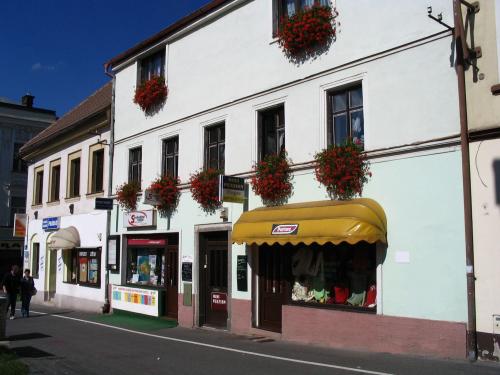
[[[295,163],[289,204],[263,214],[250,189],[247,204],[224,203],[224,210],[206,215],[187,185],[169,219],[158,215],[154,221],[156,210],[141,203],[132,215],[152,219],[137,228],[130,214],[115,209],[111,232],[120,236],[122,251],[120,272],[110,278],[112,306],[177,318],[186,327],[464,357],[467,292],[452,34],[427,18],[421,2],[337,0],[337,37],[329,50],[292,63],[273,34],[273,20],[292,3],[301,4],[215,0],[107,63],[115,74],[114,186],[136,179],[144,190],[166,172],[187,183],[212,163],[248,182],[266,150],[282,146]],[[452,23],[451,1],[431,3]],[[165,105],[146,116],[133,98],[149,73],[163,75],[169,93]],[[343,105],[347,97],[350,105]],[[339,210],[315,180],[312,161],[348,123],[346,131],[364,142],[371,160],[373,177],[363,191],[371,199]],[[164,167],[169,160],[172,171]],[[330,221],[336,215],[379,235],[351,240]],[[272,224],[302,228],[308,220],[317,221],[316,236],[306,238],[299,229],[270,237]],[[242,235],[246,229],[253,238]],[[375,307],[292,300],[292,256],[323,258],[331,292],[342,274],[353,271],[354,253],[363,254],[360,262],[376,285]]]

